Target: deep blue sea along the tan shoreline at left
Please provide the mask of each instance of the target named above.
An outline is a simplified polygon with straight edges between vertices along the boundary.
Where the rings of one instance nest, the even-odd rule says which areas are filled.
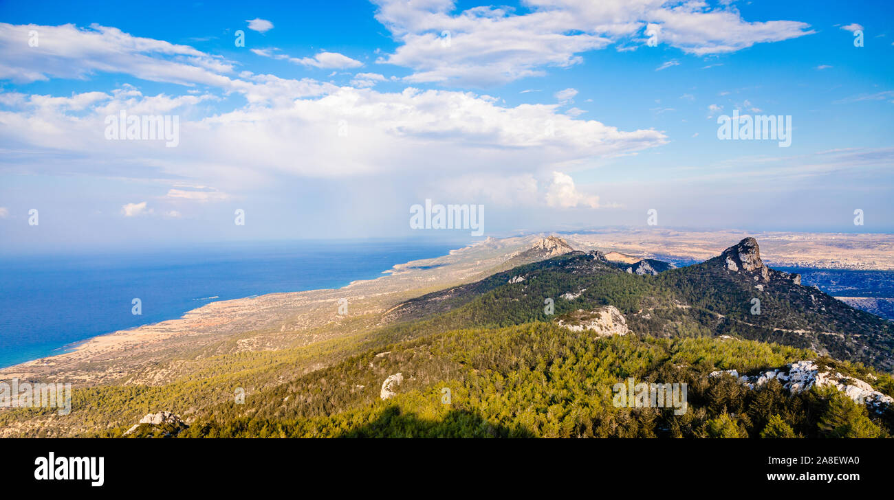
[[[457,242],[301,241],[141,253],[0,257],[0,368],[216,300],[336,288]],[[142,314],[131,313],[139,298]]]

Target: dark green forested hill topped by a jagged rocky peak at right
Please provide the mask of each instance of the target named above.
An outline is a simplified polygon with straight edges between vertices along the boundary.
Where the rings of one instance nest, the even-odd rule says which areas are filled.
[[[633,271],[645,264],[651,272]],[[886,371],[894,367],[894,325],[802,286],[797,274],[767,267],[751,237],[679,269],[652,259],[628,265],[599,251],[574,251],[418,297],[389,315],[409,320],[452,312],[458,327],[508,326],[551,321],[543,311],[547,298],[556,314],[614,305],[630,329],[645,335],[730,335],[810,348]]]

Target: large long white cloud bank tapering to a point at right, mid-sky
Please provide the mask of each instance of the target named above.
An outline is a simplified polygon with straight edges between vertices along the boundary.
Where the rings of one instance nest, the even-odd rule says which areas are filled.
[[[284,90],[291,96],[288,88]],[[78,99],[78,96],[71,97]],[[108,171],[139,161],[142,175],[180,179],[296,175],[332,178],[414,171],[426,165],[458,171],[537,171],[553,162],[630,154],[666,143],[652,129],[620,130],[558,112],[558,104],[503,106],[493,97],[466,92],[376,92],[332,87],[321,97],[273,99],[232,112],[188,119],[206,95],[142,96],[122,87],[81,112],[51,99],[23,97],[21,107],[0,111],[0,139],[38,151],[52,148],[89,157],[66,169]],[[51,104],[52,103],[52,104]],[[176,113],[176,154],[154,141],[109,141],[105,117],[129,113]],[[574,114],[573,112],[571,114]],[[296,140],[300,137],[301,140]],[[138,160],[135,160],[138,159]],[[300,159],[300,161],[296,161]],[[34,169],[52,169],[52,162]],[[240,182],[223,191],[240,189]],[[169,198],[215,201],[223,194],[173,187]]]

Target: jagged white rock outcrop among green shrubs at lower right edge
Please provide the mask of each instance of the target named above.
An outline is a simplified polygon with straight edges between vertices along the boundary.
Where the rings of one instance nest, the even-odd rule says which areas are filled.
[[[894,404],[894,398],[874,390],[873,386],[855,377],[842,375],[836,371],[821,370],[815,362],[799,361],[786,365],[788,370],[775,369],[764,371],[758,375],[739,375],[735,370],[712,371],[709,377],[719,377],[729,374],[738,379],[739,383],[754,389],[763,387],[772,379],[779,380],[782,387],[789,389],[793,394],[810,390],[811,387],[835,387],[845,393],[857,404],[866,404],[876,412],[883,412]]]

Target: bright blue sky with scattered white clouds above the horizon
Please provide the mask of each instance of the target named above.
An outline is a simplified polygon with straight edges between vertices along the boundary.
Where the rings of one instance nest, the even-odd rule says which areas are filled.
[[[891,21],[887,1],[2,2],[0,253],[471,234],[412,229],[426,200],[484,206],[482,237],[650,210],[894,232]],[[114,137],[122,112],[175,140]],[[719,138],[734,112],[788,119],[789,144]]]

